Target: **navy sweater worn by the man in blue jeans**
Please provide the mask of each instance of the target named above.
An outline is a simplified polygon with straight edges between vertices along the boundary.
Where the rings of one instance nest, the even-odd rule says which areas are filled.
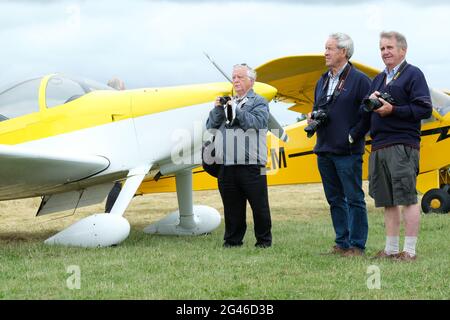
[[[314,110],[317,109],[317,102],[323,100],[323,97],[326,96],[327,88],[324,88],[324,83],[327,77],[328,72],[324,73],[317,82]],[[360,120],[358,111],[362,99],[369,92],[369,88],[370,79],[352,66],[339,96],[322,107],[322,109],[328,110],[328,122],[317,129],[315,153],[330,152],[340,155],[364,153],[364,136],[354,139],[354,143],[350,144],[348,134],[350,128]]]

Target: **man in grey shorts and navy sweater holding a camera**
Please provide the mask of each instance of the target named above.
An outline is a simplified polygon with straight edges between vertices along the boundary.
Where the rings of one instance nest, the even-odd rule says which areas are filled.
[[[376,256],[412,261],[416,259],[420,221],[416,191],[420,122],[431,116],[430,91],[419,68],[405,60],[407,43],[402,34],[382,32],[380,50],[386,69],[375,77],[370,88],[369,99],[375,104],[361,108],[363,120],[351,130],[350,136],[358,139],[370,128],[369,194],[376,207],[385,208],[386,229],[385,249]],[[400,206],[405,221],[402,252],[399,252]]]

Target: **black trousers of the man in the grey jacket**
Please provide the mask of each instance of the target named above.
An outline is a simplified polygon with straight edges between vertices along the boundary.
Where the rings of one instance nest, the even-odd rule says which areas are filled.
[[[258,244],[272,244],[267,177],[258,165],[222,166],[219,191],[225,211],[224,240],[231,245],[241,245],[247,230],[247,200],[253,211],[255,237]]]

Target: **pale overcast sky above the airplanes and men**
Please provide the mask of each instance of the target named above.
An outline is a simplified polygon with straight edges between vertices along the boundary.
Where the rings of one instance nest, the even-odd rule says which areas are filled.
[[[323,53],[332,32],[352,60],[383,68],[382,30],[408,40],[407,60],[434,88],[450,88],[449,1],[0,1],[0,84],[52,72],[127,88],[223,81],[225,70]]]

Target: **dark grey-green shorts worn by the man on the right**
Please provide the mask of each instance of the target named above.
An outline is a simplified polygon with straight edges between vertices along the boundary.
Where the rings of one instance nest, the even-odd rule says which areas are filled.
[[[419,150],[397,144],[376,150],[369,158],[369,195],[376,207],[417,203]]]

